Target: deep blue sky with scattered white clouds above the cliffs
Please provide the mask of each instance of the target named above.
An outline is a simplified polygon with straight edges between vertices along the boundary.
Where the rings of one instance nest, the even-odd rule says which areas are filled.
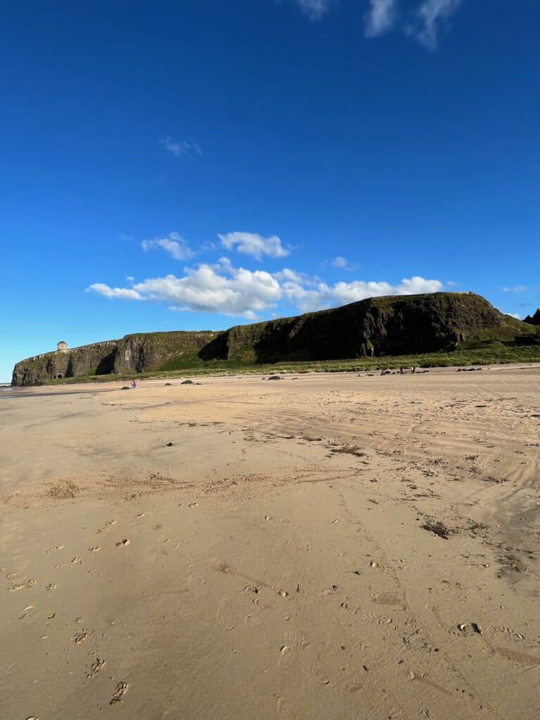
[[[6,7],[0,380],[373,294],[540,305],[538,0]]]

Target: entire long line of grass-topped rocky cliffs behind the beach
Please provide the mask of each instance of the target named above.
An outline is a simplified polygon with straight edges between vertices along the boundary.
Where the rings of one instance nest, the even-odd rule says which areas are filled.
[[[237,325],[220,333],[127,335],[17,363],[12,384],[58,377],[189,369],[208,361],[254,364],[452,350],[474,341],[536,342],[538,330],[472,293],[374,297],[297,318]]]

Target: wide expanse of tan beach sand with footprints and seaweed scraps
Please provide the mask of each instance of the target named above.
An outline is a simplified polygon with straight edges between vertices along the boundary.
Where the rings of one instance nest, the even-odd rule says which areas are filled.
[[[539,718],[540,369],[172,382],[0,399],[2,719]]]

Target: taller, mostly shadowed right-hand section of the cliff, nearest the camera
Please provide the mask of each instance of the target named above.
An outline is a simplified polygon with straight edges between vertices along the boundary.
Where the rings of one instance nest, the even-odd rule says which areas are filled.
[[[251,362],[325,360],[453,350],[482,333],[521,336],[523,323],[474,294],[377,297],[300,315],[231,328],[228,359]]]

